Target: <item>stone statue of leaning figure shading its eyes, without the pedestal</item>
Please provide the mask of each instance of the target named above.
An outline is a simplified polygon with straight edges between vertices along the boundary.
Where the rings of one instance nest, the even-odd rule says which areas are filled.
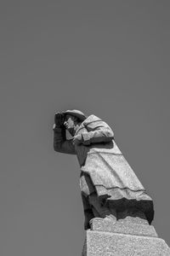
[[[71,139],[66,139],[65,130]],[[153,201],[117,147],[111,127],[102,119],[94,114],[86,117],[79,110],[55,113],[54,150],[77,154],[85,230],[96,218],[112,224],[126,218],[132,223],[140,219],[151,224]]]

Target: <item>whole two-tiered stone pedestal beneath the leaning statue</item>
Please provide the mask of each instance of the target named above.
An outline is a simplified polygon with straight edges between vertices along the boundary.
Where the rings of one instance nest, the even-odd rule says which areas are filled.
[[[166,242],[149,224],[96,219],[86,231],[83,256],[170,256]]]

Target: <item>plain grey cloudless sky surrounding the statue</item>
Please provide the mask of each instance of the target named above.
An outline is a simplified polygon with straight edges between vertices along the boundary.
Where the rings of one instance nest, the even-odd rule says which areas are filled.
[[[71,108],[111,125],[170,245],[170,2],[0,5],[0,255],[82,252],[77,158],[53,149]]]

